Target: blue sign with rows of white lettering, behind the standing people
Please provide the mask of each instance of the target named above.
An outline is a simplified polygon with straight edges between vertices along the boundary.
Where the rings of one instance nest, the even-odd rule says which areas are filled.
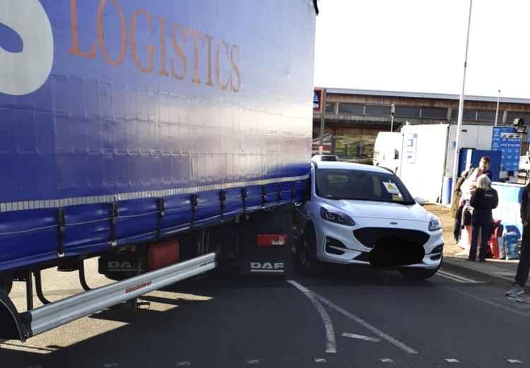
[[[500,150],[500,171],[519,171],[519,156],[521,155],[522,134],[517,133],[512,126],[495,126],[491,149]]]

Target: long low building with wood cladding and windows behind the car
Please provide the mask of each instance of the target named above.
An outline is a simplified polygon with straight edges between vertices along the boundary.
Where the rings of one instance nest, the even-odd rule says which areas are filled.
[[[324,112],[313,114],[314,148],[319,144],[322,114],[326,148],[341,158],[372,158],[379,131],[390,131],[391,105],[395,107],[394,131],[410,124],[457,124],[459,95],[408,93],[382,90],[323,88]],[[324,100],[324,98],[323,98]],[[324,104],[323,104],[324,105]],[[464,124],[495,124],[497,97],[466,96]],[[501,97],[497,124],[522,118],[530,124],[530,99]],[[528,146],[523,147],[524,151]]]

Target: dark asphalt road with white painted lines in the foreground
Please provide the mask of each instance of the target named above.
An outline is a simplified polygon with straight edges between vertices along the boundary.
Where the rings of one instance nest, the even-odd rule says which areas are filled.
[[[49,298],[78,291],[74,276],[53,278]],[[288,280],[206,276],[150,293],[134,313],[103,311],[7,341],[0,367],[529,367],[530,304],[480,281],[441,273],[410,282],[367,267]]]

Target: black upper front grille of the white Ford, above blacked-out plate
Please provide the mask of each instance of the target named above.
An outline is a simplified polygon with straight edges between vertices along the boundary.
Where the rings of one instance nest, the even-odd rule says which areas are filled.
[[[373,248],[381,238],[392,238],[397,243],[400,240],[406,243],[413,242],[421,247],[429,239],[429,235],[423,231],[390,229],[388,227],[363,227],[362,229],[353,230],[353,236],[367,248]]]

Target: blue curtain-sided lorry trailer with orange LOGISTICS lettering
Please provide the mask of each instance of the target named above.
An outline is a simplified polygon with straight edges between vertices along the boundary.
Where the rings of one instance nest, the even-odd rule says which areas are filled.
[[[278,248],[292,247],[290,209],[310,170],[316,1],[0,9],[0,339],[220,259],[285,272]],[[116,283],[90,290],[92,257]],[[87,291],[48,303],[40,271],[51,267],[78,271]],[[27,311],[8,297],[13,281],[26,283]]]

